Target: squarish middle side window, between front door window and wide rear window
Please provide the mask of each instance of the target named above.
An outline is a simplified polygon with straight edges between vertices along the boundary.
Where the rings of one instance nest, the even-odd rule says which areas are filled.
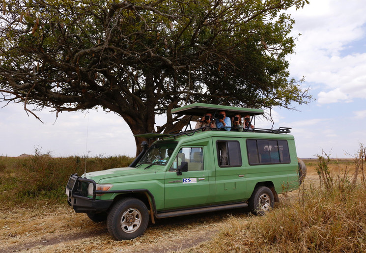
[[[242,166],[239,141],[217,141],[216,143],[220,167]]]

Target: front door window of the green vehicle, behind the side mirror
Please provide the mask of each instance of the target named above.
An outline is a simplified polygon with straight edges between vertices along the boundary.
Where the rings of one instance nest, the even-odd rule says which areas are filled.
[[[182,147],[175,156],[169,171],[176,171],[182,162],[188,163],[188,171],[203,170],[203,149],[201,147]]]

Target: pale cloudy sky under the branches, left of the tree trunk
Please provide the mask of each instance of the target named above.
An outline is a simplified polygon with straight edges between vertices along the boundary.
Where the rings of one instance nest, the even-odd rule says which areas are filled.
[[[129,155],[134,156],[136,145],[127,123],[113,113],[96,112],[37,112],[44,124],[26,116],[21,106],[9,105],[0,109],[0,131],[5,133],[0,155],[33,154],[34,147],[54,156],[69,155]]]

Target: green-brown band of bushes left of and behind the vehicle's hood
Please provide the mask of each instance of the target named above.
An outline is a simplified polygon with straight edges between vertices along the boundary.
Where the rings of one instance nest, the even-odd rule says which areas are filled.
[[[2,207],[28,203],[30,199],[51,202],[65,201],[65,186],[73,173],[82,175],[86,171],[127,167],[133,158],[127,156],[98,156],[85,158],[70,156],[53,158],[49,153],[28,157],[0,158],[0,201]]]

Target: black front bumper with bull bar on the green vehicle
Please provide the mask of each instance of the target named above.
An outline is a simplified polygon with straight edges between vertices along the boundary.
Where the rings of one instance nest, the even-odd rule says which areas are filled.
[[[87,187],[93,184],[93,197],[87,197]],[[90,211],[107,211],[113,200],[95,199],[96,183],[94,180],[82,178],[78,174],[72,174],[66,186],[67,203],[77,213],[87,213]]]

